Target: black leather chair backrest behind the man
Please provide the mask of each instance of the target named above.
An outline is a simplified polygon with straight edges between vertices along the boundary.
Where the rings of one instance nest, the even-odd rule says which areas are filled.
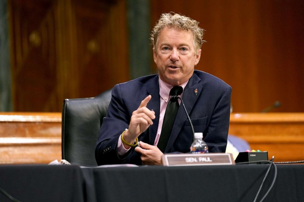
[[[111,101],[111,91],[96,97],[63,101],[62,159],[82,166],[97,166],[95,146]]]

